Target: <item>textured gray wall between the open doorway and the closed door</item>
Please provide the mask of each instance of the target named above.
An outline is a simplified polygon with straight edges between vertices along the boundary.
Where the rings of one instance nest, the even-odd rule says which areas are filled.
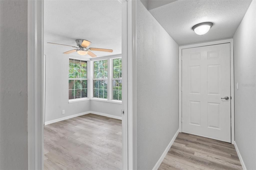
[[[178,130],[178,44],[137,1],[137,169],[152,169]]]

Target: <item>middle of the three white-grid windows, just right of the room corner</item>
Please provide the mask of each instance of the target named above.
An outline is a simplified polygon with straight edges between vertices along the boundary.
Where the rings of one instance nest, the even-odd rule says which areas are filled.
[[[93,97],[108,98],[108,60],[94,61]]]

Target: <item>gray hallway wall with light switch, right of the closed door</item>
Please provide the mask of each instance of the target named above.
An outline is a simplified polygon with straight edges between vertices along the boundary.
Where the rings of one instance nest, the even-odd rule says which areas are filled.
[[[255,4],[252,1],[233,37],[235,142],[247,169],[256,169]]]

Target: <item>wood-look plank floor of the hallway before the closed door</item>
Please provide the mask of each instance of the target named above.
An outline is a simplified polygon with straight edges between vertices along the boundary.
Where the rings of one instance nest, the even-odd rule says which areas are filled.
[[[241,170],[234,145],[214,139],[179,133],[158,170]]]

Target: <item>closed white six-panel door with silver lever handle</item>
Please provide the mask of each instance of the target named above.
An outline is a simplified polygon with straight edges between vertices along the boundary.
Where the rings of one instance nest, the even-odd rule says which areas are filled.
[[[182,132],[231,142],[230,93],[230,43],[182,49]]]

